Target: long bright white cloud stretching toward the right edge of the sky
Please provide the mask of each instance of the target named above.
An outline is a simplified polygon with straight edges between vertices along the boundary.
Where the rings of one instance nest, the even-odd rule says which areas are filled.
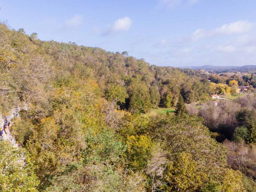
[[[190,40],[196,41],[202,38],[211,38],[219,35],[232,35],[232,34],[244,34],[249,32],[254,26],[254,23],[248,21],[236,21],[230,24],[224,24],[219,28],[206,31],[204,29],[197,29],[190,36]]]

